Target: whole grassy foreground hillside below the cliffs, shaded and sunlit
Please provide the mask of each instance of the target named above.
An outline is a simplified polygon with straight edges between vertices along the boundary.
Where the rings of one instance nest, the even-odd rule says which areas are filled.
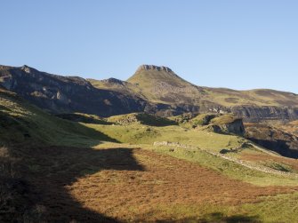
[[[136,113],[61,119],[4,89],[0,103],[1,222],[297,220],[295,160],[229,129]]]

